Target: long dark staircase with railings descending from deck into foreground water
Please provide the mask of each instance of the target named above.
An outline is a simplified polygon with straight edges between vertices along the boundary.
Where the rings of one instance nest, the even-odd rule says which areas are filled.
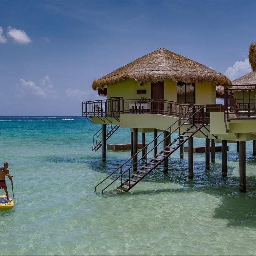
[[[207,120],[205,120],[204,115],[205,115],[205,110],[203,106],[199,109],[196,109],[195,107],[191,107],[176,122],[174,122],[172,125],[166,128],[164,132],[162,132],[156,138],[154,138],[154,140],[157,141],[161,135],[165,134],[165,132],[170,132],[168,136],[166,136],[163,140],[161,140],[157,145],[153,146],[153,148],[149,151],[148,151],[148,147],[150,146],[150,144],[151,145],[154,144],[154,140],[148,143],[147,146],[142,148],[142,150],[146,150],[145,155],[143,155],[135,163],[133,161],[134,156],[128,159],[124,164],[122,164],[120,167],[114,170],[114,172],[112,172],[104,180],[102,180],[99,184],[97,184],[95,186],[95,191],[97,190],[97,187],[100,184],[102,184],[109,178],[113,178],[114,180],[112,180],[105,188],[103,188],[102,194],[104,193],[104,190],[106,190],[106,188],[108,188],[117,180],[120,180],[120,186],[116,188],[118,191],[121,191],[121,192],[129,191],[136,184],[138,184],[138,182],[140,182],[143,178],[145,178],[148,174],[150,174],[150,172],[152,172],[157,166],[159,166],[166,158],[168,158],[178,148],[180,148],[182,144],[184,144],[186,141],[192,138],[197,132],[200,131],[202,132],[202,134],[204,134],[204,132],[202,131],[203,127],[206,130],[208,130],[208,128],[205,126],[205,124],[207,124]],[[186,125],[186,128],[184,128],[184,125]],[[167,146],[164,146],[164,148],[158,154],[154,155],[153,154],[154,149],[159,147],[160,144],[162,144],[162,142],[166,141],[166,139],[168,139],[169,136],[171,138],[172,134],[174,133],[178,134],[178,137],[172,140],[172,142],[170,142]],[[206,135],[204,134],[204,136]],[[136,155],[138,156],[138,154],[142,152],[142,150],[140,150]],[[148,160],[148,156],[150,154],[153,154],[153,157],[149,157],[150,160]],[[146,163],[145,163],[145,158],[146,158]],[[141,164],[142,167],[139,168],[139,170],[133,171],[134,166],[137,166],[140,163],[142,163]]]

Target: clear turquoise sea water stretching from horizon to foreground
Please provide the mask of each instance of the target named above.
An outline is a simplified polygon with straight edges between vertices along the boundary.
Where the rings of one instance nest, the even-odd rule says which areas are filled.
[[[130,152],[107,151],[103,163],[101,150],[91,150],[97,128],[80,117],[0,117],[0,162],[9,162],[15,196],[14,209],[0,213],[1,255],[255,254],[251,143],[247,193],[238,192],[238,154],[229,144],[227,178],[221,177],[220,153],[207,171],[204,154],[194,154],[190,180],[188,156],[181,160],[177,152],[168,174],[159,168],[128,193],[102,196],[94,186]],[[129,142],[129,136],[119,129],[108,143]]]

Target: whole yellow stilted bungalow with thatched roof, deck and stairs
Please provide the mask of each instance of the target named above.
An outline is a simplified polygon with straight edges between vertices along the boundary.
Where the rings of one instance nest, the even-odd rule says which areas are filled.
[[[224,86],[224,104],[216,104],[216,85]],[[160,164],[168,172],[168,157],[179,150],[183,158],[185,142],[188,176],[193,178],[194,137],[205,138],[206,169],[210,168],[210,141],[212,162],[215,142],[222,143],[222,176],[227,176],[227,142],[239,142],[240,191],[246,191],[245,142],[256,140],[256,115],[237,114],[244,105],[234,105],[232,82],[226,76],[160,48],[94,80],[92,88],[106,99],[82,102],[82,115],[102,124],[98,131],[102,139],[93,150],[102,147],[103,161],[106,140],[119,127],[131,130],[131,158],[100,182],[102,193],[117,182],[117,190],[127,192]],[[138,132],[142,135],[139,152]],[[154,135],[146,144],[148,132]]]

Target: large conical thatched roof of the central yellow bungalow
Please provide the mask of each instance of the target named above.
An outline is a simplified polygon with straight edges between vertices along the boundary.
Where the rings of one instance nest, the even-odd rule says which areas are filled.
[[[186,83],[211,82],[214,84],[231,85],[230,80],[220,72],[160,48],[118,68],[100,79],[94,80],[92,88],[94,90],[102,89],[104,86],[122,82],[126,78],[132,78],[143,83],[171,79]]]

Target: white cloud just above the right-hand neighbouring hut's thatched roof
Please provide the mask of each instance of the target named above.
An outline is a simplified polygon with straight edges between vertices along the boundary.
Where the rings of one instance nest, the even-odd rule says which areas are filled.
[[[236,61],[232,67],[228,67],[226,72],[224,73],[230,80],[234,80],[240,76],[243,76],[249,72],[251,72],[251,66],[248,58],[244,61]]]

